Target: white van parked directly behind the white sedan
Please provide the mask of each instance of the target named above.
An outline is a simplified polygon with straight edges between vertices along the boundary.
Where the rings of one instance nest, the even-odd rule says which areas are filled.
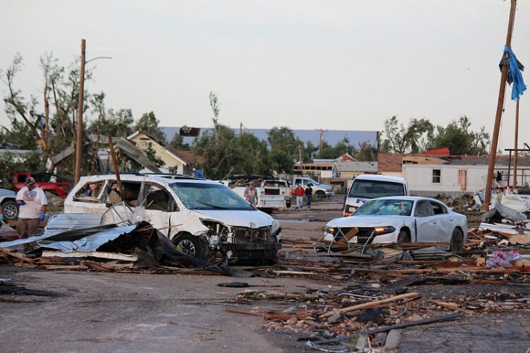
[[[351,215],[363,203],[385,196],[409,196],[406,179],[386,175],[363,174],[353,179],[344,201],[344,217]]]

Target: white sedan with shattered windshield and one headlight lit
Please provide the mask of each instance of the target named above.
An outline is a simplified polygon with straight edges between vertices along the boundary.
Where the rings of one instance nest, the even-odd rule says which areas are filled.
[[[375,198],[351,216],[327,223],[324,239],[341,237],[358,244],[447,242],[452,251],[460,251],[466,242],[467,218],[434,198]]]

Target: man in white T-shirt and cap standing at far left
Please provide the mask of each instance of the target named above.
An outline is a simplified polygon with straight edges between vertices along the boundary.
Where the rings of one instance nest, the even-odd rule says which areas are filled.
[[[16,194],[16,202],[19,205],[16,225],[18,237],[25,237],[26,232],[28,237],[31,237],[37,230],[39,222],[45,220],[48,204],[46,194],[35,186],[35,179],[29,177],[25,179],[25,186]]]

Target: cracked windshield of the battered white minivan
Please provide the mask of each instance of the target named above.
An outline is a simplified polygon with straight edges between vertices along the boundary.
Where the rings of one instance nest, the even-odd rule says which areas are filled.
[[[189,210],[256,210],[222,184],[173,183],[171,189]]]

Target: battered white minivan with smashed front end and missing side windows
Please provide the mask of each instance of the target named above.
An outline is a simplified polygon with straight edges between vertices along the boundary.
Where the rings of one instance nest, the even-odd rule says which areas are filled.
[[[145,220],[177,249],[201,258],[271,263],[281,249],[278,221],[216,181],[121,174],[122,191],[116,193],[115,179],[82,177],[64,200],[64,213],[101,214],[102,224]]]

